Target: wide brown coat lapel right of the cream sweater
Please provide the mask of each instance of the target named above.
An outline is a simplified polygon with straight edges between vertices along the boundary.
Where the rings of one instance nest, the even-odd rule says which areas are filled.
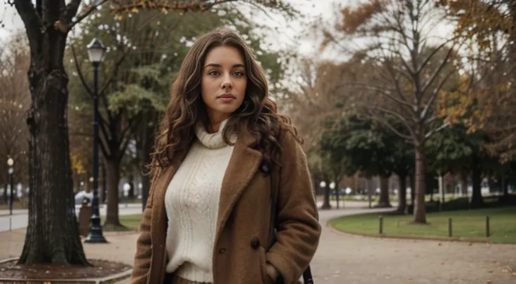
[[[238,139],[222,180],[215,243],[217,243],[222,229],[226,225],[233,206],[262,162],[262,152],[252,148],[256,139],[245,130],[245,127],[242,129],[244,130],[238,134]]]

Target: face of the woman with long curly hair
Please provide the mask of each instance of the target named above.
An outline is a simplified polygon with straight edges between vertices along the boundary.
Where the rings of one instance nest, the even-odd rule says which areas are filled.
[[[242,105],[247,87],[243,56],[231,46],[218,46],[206,55],[201,96],[212,124],[229,118]]]

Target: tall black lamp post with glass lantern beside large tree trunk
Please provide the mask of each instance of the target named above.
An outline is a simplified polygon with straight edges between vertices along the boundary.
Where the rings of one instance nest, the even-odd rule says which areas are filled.
[[[100,62],[106,48],[102,41],[93,38],[88,45],[88,56],[93,64],[93,212],[91,214],[91,229],[84,240],[85,243],[107,243],[102,234],[99,211],[99,106],[98,106],[98,73]]]

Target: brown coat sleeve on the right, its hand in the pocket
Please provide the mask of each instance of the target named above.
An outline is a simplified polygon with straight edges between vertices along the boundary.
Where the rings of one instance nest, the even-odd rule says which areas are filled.
[[[281,141],[276,243],[266,253],[284,283],[294,283],[317,250],[321,227],[306,155],[290,132]]]

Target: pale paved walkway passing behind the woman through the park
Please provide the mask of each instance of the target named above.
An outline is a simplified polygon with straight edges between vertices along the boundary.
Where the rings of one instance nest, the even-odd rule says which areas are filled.
[[[360,206],[321,211],[320,222],[325,225],[338,215],[370,212]],[[84,244],[88,258],[132,264],[137,235],[105,235],[109,244]],[[0,259],[19,256],[24,238],[22,229],[0,232]],[[340,234],[327,227],[323,227],[312,262],[317,284],[516,283],[510,269],[516,271],[516,246],[376,239]]]

